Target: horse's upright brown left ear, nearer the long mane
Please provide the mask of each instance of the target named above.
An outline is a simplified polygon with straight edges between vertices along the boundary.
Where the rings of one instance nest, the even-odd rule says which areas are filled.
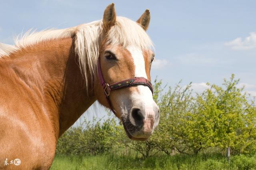
[[[116,11],[115,4],[112,3],[104,11],[103,15],[103,26],[104,30],[108,31],[111,26],[114,26],[116,23]]]

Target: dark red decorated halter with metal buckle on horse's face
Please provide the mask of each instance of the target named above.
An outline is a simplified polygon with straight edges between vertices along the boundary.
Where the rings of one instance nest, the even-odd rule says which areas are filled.
[[[100,84],[102,85],[103,90],[104,90],[104,95],[106,97],[106,100],[108,101],[108,105],[109,105],[110,109],[112,110],[112,112],[115,115],[116,115],[116,111],[113,109],[111,101],[109,99],[110,91],[122,89],[125,87],[136,86],[136,85],[144,85],[144,86],[147,86],[153,94],[152,84],[150,83],[150,81],[148,79],[146,79],[144,77],[134,77],[134,78],[126,79],[124,81],[119,81],[117,83],[113,83],[110,85],[108,83],[106,83],[104,81],[102,71],[101,71],[100,57],[98,59],[97,69],[98,69],[98,77],[100,79]]]

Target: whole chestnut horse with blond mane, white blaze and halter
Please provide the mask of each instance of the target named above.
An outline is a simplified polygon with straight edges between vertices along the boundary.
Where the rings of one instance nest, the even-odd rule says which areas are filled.
[[[58,138],[96,100],[132,140],[159,123],[146,34],[147,9],[134,22],[116,16],[62,30],[26,33],[0,53],[0,169],[49,169]]]

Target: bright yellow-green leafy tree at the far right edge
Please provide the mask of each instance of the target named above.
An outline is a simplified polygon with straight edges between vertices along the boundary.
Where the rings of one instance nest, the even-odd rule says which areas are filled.
[[[210,85],[194,99],[191,111],[186,114],[186,142],[197,153],[202,148],[231,147],[236,152],[246,152],[255,147],[255,105],[248,102],[239,80],[224,79],[223,87]],[[249,128],[250,127],[250,128]],[[247,141],[247,142],[246,142]],[[254,146],[253,146],[254,145]]]

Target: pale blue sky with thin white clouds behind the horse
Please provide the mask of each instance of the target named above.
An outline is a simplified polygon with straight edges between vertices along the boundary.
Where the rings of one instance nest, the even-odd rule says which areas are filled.
[[[100,20],[112,2],[117,16],[135,21],[150,10],[147,33],[156,53],[152,79],[157,76],[170,86],[192,82],[200,93],[207,82],[221,85],[234,73],[240,87],[256,96],[254,0],[0,0],[0,42],[13,44],[14,36],[31,28],[60,29]]]

